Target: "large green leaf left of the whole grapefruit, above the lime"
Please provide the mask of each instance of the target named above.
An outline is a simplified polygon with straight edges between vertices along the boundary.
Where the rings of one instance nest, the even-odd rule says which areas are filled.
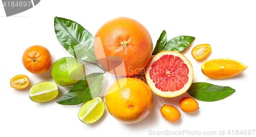
[[[54,29],[60,44],[75,58],[98,64],[94,54],[94,38],[75,21],[55,17]]]

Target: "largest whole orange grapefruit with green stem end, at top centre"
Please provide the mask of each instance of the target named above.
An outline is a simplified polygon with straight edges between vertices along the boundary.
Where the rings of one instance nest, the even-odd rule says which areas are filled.
[[[102,68],[112,74],[130,76],[150,61],[150,33],[138,21],[118,17],[104,23],[95,35],[94,52]]]

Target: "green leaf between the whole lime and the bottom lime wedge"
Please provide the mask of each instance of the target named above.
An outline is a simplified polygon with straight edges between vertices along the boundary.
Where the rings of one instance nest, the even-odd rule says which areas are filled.
[[[57,103],[63,105],[76,105],[97,97],[104,84],[105,73],[92,73],[81,78],[68,93],[63,95]]]

